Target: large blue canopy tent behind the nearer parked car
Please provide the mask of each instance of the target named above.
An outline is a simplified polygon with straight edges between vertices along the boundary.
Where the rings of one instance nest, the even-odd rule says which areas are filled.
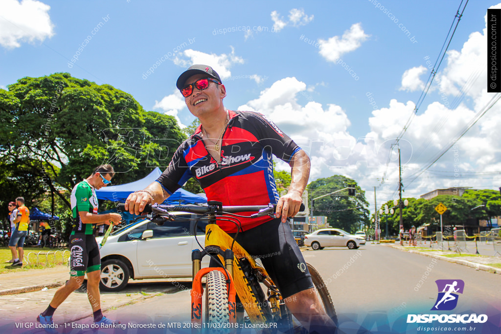
[[[127,199],[130,193],[144,189],[146,188],[149,184],[154,182],[160,175],[162,174],[162,171],[160,168],[155,168],[154,170],[151,171],[146,177],[126,183],[126,184],[121,184],[117,186],[108,186],[108,187],[103,187],[99,190],[96,190],[96,195],[98,199],[106,199],[109,201],[113,201],[116,203],[123,203]],[[164,204],[193,204],[193,203],[206,203],[207,198],[205,196],[199,196],[190,193],[189,191],[186,191],[184,189],[178,189],[176,192],[174,192],[172,195],[165,200]]]

